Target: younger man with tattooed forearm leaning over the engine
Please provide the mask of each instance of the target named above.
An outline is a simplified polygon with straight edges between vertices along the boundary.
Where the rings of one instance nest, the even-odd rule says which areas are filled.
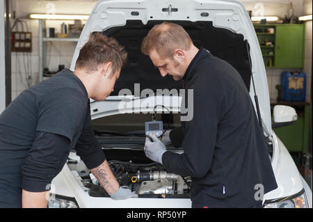
[[[92,33],[74,72],[24,90],[1,113],[0,207],[47,207],[51,180],[74,148],[111,198],[137,197],[118,184],[90,118],[89,99],[110,95],[126,59],[115,39]]]

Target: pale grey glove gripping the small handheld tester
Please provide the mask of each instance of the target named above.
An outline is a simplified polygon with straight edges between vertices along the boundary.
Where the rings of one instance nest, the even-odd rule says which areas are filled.
[[[152,141],[150,141],[150,138],[145,138],[145,155],[162,164],[162,155],[166,152],[166,147],[154,134],[149,134],[149,136]]]

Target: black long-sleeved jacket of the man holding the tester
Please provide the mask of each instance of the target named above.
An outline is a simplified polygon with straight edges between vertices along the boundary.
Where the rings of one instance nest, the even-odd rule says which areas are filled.
[[[191,176],[194,207],[249,207],[255,185],[264,193],[277,187],[263,132],[240,74],[201,48],[184,75],[185,104],[193,100],[193,118],[170,134],[183,154],[165,152],[163,166]],[[193,97],[188,90],[193,90]],[[190,109],[190,108],[188,108]],[[187,115],[187,114],[185,114]],[[183,136],[177,136],[183,134]]]

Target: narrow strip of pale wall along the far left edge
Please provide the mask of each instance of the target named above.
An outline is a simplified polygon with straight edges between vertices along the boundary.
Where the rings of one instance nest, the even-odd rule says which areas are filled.
[[[6,109],[6,62],[4,42],[4,0],[0,0],[0,113]]]

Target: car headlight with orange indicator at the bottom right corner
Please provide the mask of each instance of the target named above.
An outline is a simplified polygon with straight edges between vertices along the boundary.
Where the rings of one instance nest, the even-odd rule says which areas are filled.
[[[304,189],[299,193],[287,198],[266,200],[264,208],[307,208],[307,198]]]

